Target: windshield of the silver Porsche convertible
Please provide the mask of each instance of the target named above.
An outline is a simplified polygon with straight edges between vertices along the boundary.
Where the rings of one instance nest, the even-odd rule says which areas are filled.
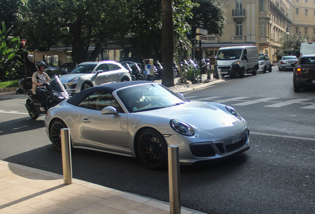
[[[117,91],[117,96],[129,112],[171,107],[188,102],[181,96],[159,84],[144,84],[125,88]],[[139,103],[148,101],[153,104],[139,108],[132,107],[136,102]]]

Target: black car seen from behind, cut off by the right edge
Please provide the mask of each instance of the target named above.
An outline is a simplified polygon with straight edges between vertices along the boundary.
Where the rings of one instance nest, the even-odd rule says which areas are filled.
[[[293,87],[294,92],[300,92],[302,87],[315,87],[315,54],[306,54],[299,58],[293,69]]]

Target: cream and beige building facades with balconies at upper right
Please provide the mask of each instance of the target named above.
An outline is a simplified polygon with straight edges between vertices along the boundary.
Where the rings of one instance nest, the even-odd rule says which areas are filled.
[[[221,37],[208,35],[208,40],[202,41],[203,58],[215,55],[220,47],[254,45],[275,61],[280,39],[287,36],[288,28],[315,42],[315,0],[217,1],[226,9],[226,26]],[[195,56],[198,52],[197,42]]]

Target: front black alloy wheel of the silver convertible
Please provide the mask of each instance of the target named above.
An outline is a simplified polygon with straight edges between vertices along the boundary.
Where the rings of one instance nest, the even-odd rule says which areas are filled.
[[[140,160],[149,168],[160,170],[167,164],[167,145],[156,130],[145,129],[137,142]]]

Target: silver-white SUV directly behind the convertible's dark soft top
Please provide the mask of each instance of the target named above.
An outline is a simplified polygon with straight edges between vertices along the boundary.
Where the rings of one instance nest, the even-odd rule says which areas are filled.
[[[60,76],[68,94],[111,82],[130,81],[130,73],[115,61],[82,62],[71,73]]]

